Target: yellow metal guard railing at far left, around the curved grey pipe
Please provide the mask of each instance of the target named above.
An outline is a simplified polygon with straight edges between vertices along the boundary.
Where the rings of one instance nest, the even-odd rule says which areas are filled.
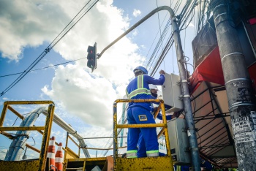
[[[7,115],[7,110],[9,109],[12,113],[15,115],[18,115],[19,118],[23,119],[23,115],[20,115],[16,110],[14,110],[10,105],[13,104],[49,104],[48,105],[48,114],[45,118],[45,126],[3,126],[4,124],[4,118]],[[37,161],[1,161],[0,162],[0,168],[10,170],[45,170],[45,164],[46,164],[46,156],[47,156],[47,148],[50,140],[50,131],[51,126],[53,123],[53,113],[54,113],[54,103],[52,101],[7,101],[4,102],[4,107],[1,113],[0,118],[0,133],[4,134],[7,137],[10,137],[11,135],[4,131],[38,131],[42,132],[42,145],[41,145],[41,151],[38,151],[36,148],[34,148],[35,151],[39,152],[39,160]],[[10,162],[10,164],[5,164],[4,162]],[[26,162],[30,162],[28,164],[30,167],[26,168]],[[17,164],[17,167],[14,165]]]

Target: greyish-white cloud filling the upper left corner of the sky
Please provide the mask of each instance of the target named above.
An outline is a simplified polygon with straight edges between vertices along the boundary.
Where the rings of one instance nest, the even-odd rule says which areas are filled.
[[[2,57],[18,61],[23,48],[49,42],[70,18],[58,1],[1,1],[0,50]]]

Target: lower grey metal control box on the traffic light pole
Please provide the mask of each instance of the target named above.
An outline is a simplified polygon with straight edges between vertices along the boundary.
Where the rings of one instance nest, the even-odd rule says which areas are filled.
[[[167,123],[167,129],[173,161],[178,164],[189,164],[191,158],[189,153],[189,137],[187,137],[186,120],[176,118],[176,120]]]

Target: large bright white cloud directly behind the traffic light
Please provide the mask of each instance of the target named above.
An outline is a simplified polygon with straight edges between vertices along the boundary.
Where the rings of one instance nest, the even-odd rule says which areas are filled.
[[[116,7],[99,2],[97,8],[92,9],[94,15],[83,18],[55,48],[64,58],[86,56],[87,46],[94,42],[100,53],[129,26]],[[59,66],[51,88],[45,86],[42,91],[86,123],[110,128],[113,102],[124,96],[129,79],[133,77],[132,69],[141,63],[142,57],[136,50],[138,46],[124,37],[99,58],[92,75],[86,60]]]

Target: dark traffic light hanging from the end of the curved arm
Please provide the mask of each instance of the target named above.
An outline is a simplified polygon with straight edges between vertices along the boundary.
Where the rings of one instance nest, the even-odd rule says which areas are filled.
[[[94,46],[88,46],[87,48],[87,66],[91,68],[91,72],[97,68],[97,44],[95,42]]]

